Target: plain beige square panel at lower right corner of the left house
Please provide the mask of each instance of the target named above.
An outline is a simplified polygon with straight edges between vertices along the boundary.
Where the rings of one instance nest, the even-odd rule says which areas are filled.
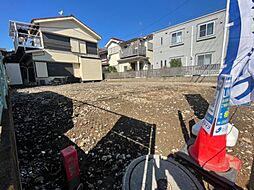
[[[80,72],[82,81],[102,80],[101,60],[81,58]]]

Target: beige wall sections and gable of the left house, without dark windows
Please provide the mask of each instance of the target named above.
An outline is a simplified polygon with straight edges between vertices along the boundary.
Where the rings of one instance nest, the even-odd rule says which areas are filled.
[[[40,62],[58,62],[73,64],[74,76],[83,81],[102,80],[102,68],[99,55],[86,55],[91,58],[80,58],[86,51],[86,42],[98,43],[98,37],[86,30],[74,20],[42,22],[42,32],[70,37],[71,52],[44,49],[44,52],[33,53],[33,60]]]

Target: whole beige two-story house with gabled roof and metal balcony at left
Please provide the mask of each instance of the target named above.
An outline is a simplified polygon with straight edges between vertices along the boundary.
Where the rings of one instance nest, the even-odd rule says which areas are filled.
[[[102,80],[101,37],[74,16],[10,21],[24,83]]]

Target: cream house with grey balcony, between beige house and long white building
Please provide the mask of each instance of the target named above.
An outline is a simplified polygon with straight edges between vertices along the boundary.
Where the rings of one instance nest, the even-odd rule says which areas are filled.
[[[111,38],[106,44],[109,65],[118,72],[139,71],[151,68],[153,61],[153,35],[128,41]]]

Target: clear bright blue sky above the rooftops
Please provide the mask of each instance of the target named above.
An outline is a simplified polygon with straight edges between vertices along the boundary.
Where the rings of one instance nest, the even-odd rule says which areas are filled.
[[[8,21],[75,15],[102,36],[127,40],[152,33],[210,12],[224,9],[226,0],[3,0],[0,13],[0,47],[11,49]]]

